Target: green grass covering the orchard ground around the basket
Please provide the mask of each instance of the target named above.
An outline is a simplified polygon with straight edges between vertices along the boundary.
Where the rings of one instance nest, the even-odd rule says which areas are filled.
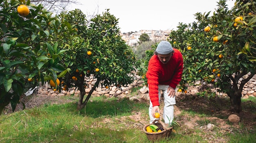
[[[134,102],[128,98],[92,97],[85,110],[77,111],[77,99],[72,96],[64,98],[74,101],[65,104],[46,103],[0,116],[0,143],[149,143],[142,129],[144,125],[128,118],[141,113],[144,120],[149,120],[147,102]],[[175,125],[176,133],[157,143],[208,143],[208,136],[227,139],[226,143],[255,141],[255,133],[242,124],[241,130],[235,132],[221,133],[216,128],[214,134],[207,134],[199,128],[209,123],[216,125],[216,121],[206,119],[210,115],[190,109],[182,111],[175,119],[179,121],[184,116],[188,120],[200,117],[196,121],[198,126],[191,129]]]

